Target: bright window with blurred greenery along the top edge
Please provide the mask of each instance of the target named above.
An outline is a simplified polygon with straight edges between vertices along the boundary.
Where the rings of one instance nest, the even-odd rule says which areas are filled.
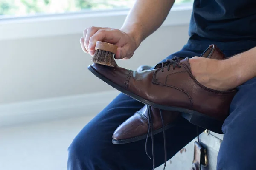
[[[0,17],[131,8],[135,0],[0,0]],[[175,4],[192,2],[176,0]]]

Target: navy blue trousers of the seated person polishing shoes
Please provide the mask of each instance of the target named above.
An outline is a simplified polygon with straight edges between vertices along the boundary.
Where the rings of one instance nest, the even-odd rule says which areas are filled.
[[[196,48],[197,49],[197,48]],[[244,50],[224,51],[227,57]],[[204,50],[183,48],[174,56],[200,56]],[[241,67],[243,67],[241,65]],[[255,68],[253,68],[255,69]],[[230,115],[222,130],[224,140],[218,154],[217,170],[255,170],[256,160],[256,78],[238,88],[230,106]],[[152,160],[145,153],[145,140],[112,144],[114,130],[144,106],[125,94],[119,94],[92,119],[68,148],[68,170],[151,170]],[[203,129],[200,129],[202,132]],[[186,119],[166,130],[167,156],[172,158],[196,137],[196,127]],[[151,139],[148,151],[151,155]],[[154,136],[156,166],[164,163],[163,133]],[[186,160],[184,160],[186,161]]]

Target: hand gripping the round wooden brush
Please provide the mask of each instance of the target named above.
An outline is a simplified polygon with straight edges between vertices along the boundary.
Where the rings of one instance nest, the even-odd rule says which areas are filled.
[[[81,37],[81,48],[91,56],[95,53],[96,41],[104,41],[117,45],[116,59],[130,59],[138,48],[137,43],[131,34],[126,34],[119,29],[90,27],[84,30],[84,37]]]

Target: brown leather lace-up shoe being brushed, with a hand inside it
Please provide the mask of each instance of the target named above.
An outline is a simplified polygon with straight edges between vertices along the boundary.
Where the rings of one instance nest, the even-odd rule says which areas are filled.
[[[223,56],[215,45],[202,55],[213,59]],[[236,94],[236,90],[217,91],[201,85],[191,73],[188,58],[180,62],[167,60],[144,72],[99,64],[89,65],[88,69],[128,96],[154,108],[180,111],[189,122],[216,133],[222,133],[221,126]]]

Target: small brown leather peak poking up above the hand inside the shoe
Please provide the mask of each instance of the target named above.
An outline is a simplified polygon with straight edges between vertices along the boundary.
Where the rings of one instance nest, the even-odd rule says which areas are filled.
[[[216,45],[212,44],[209,45],[200,57],[222,60],[225,58],[225,55]]]

